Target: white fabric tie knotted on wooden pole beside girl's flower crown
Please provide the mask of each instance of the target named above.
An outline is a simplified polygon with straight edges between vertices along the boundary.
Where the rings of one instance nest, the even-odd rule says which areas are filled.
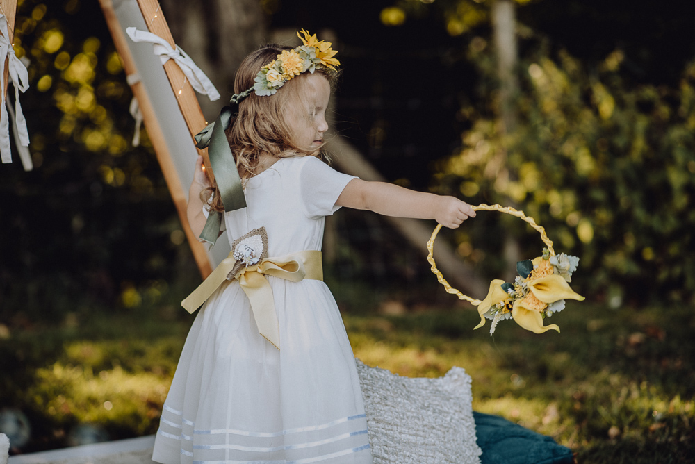
[[[133,42],[152,43],[154,54],[159,56],[162,65],[168,60],[174,60],[181,68],[181,71],[183,71],[183,74],[186,75],[188,81],[190,81],[190,85],[193,85],[196,92],[207,95],[210,101],[215,101],[220,98],[220,93],[215,88],[215,85],[213,85],[208,76],[193,63],[193,60],[186,55],[186,52],[183,51],[181,47],[172,49],[169,42],[158,35],[147,31],[139,31],[134,27],[126,28],[126,33]]]

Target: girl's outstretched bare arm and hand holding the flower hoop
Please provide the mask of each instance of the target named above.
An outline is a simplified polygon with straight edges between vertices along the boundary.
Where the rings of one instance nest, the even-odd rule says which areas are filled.
[[[392,183],[352,179],[336,201],[338,206],[370,210],[386,216],[436,219],[456,229],[468,217],[475,217],[471,205],[455,197],[415,192]]]

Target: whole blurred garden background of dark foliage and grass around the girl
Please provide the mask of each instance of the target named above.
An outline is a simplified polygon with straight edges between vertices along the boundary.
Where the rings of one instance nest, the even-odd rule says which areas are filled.
[[[233,40],[222,3],[162,8],[223,99],[229,56],[318,32],[343,63],[334,131],[382,175],[514,205],[581,258],[572,285],[587,301],[554,317],[561,335],[507,323],[490,338],[436,283],[424,243],[341,210],[327,281],[357,356],[407,375],[462,365],[478,409],[555,436],[582,462],[695,458],[691,1],[244,0],[224,11],[259,21]],[[500,6],[515,15],[508,72]],[[215,44],[204,57],[187,47],[192,10],[205,19],[195,34]],[[24,451],[67,445],[85,423],[110,438],[154,433],[190,325],[178,302],[199,273],[146,131],[131,147],[132,95],[98,3],[19,1],[14,45],[28,59],[35,169],[16,156],[0,166],[0,409],[31,422]],[[542,247],[493,213],[439,240],[481,281],[513,269],[510,242],[521,258]]]

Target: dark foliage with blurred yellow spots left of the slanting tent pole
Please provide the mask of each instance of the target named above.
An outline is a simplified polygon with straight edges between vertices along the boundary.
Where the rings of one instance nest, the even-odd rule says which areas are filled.
[[[20,2],[15,53],[35,169],[0,169],[0,317],[158,300],[190,252],[98,2]]]

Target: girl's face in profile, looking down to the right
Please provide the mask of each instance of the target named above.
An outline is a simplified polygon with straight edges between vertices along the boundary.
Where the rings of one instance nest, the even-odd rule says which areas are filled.
[[[331,85],[320,74],[306,74],[297,83],[297,94],[288,102],[286,122],[292,142],[305,150],[316,149],[323,143],[328,130],[326,108],[331,97]]]

